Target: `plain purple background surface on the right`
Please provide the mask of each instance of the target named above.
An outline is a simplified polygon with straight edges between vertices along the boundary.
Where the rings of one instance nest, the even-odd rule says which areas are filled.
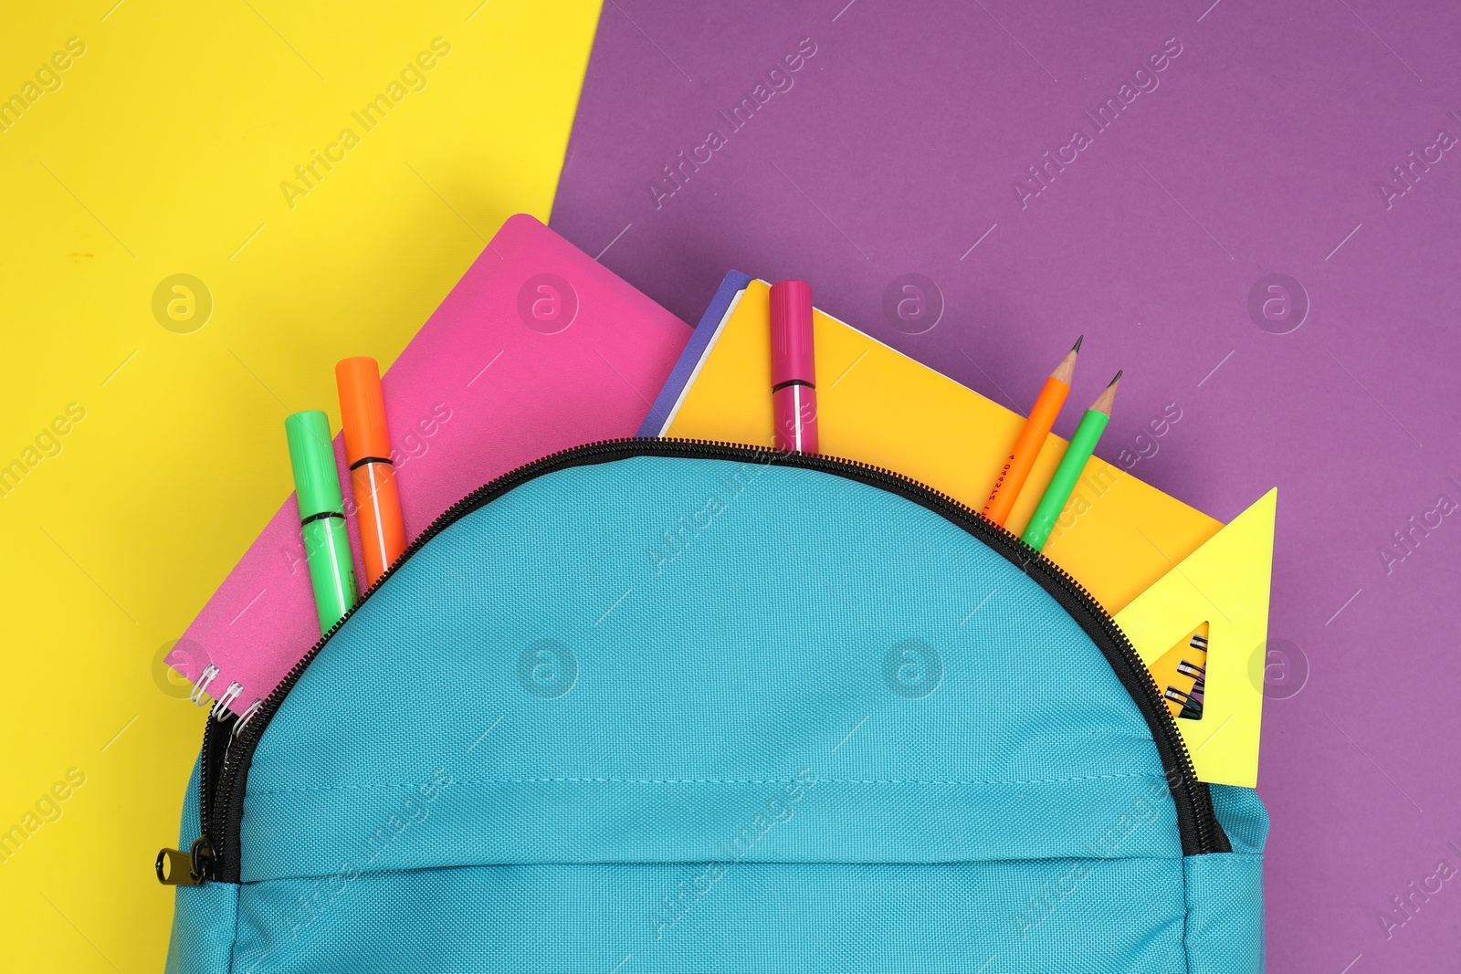
[[[1132,473],[1223,520],[1278,485],[1270,970],[1454,970],[1461,878],[1388,939],[1379,911],[1461,867],[1461,515],[1388,572],[1378,549],[1461,502],[1461,146],[1388,209],[1379,184],[1461,136],[1461,9],[1210,3],[608,0],[552,226],[687,321],[729,269],[805,277],[1021,412],[1084,331],[1072,403],[1126,371],[1102,456],[1176,403]],[[656,207],[662,166],[806,37],[792,89]],[[1021,207],[1015,180],[1169,38],[1156,91]],[[882,310],[904,273],[942,295],[922,334]],[[1270,273],[1312,305],[1287,334],[1248,310]]]

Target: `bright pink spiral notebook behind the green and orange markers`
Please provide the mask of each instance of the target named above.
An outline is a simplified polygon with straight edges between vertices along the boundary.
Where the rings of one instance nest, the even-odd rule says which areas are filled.
[[[634,435],[690,334],[532,216],[510,218],[381,378],[408,539],[501,473]],[[339,435],[335,453],[364,580]],[[289,464],[282,423],[276,461]],[[196,701],[243,714],[318,638],[291,495],[167,662]]]

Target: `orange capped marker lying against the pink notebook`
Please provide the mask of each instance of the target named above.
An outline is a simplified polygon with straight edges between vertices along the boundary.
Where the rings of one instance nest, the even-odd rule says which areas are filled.
[[[406,551],[400,495],[386,432],[386,402],[380,394],[380,365],[361,355],[335,365],[345,425],[345,461],[351,464],[355,523],[365,553],[365,584],[373,586]]]

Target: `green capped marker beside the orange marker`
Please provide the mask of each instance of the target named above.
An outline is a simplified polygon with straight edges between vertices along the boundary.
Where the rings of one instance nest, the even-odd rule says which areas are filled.
[[[345,499],[335,469],[330,419],[318,409],[294,413],[283,421],[289,438],[294,494],[300,502],[304,556],[314,587],[314,609],[320,632],[340,621],[355,605],[355,564],[345,530]]]

